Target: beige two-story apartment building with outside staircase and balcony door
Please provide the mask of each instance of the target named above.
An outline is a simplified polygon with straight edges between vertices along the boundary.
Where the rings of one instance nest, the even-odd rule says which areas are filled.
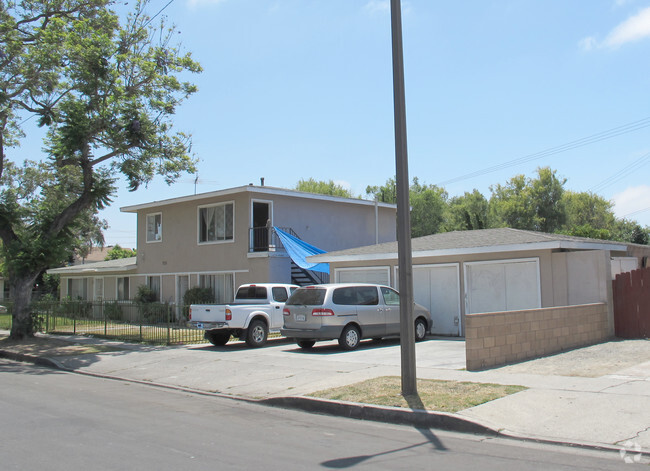
[[[49,270],[61,296],[130,299],[140,285],[163,302],[212,288],[218,302],[254,282],[320,282],[292,263],[273,227],[324,251],[394,241],[396,206],[265,186],[242,186],[121,208],[137,215],[137,257]],[[312,276],[309,280],[305,276]]]

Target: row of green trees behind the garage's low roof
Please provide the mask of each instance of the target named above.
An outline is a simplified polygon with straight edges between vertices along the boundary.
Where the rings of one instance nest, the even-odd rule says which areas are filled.
[[[549,167],[527,178],[516,175],[505,184],[490,187],[489,201],[478,190],[449,198],[443,188],[413,179],[409,198],[413,237],[445,231],[512,227],[540,232],[560,232],[578,237],[650,242],[650,228],[617,220],[612,203],[589,192],[565,190],[566,179]],[[368,186],[366,195],[395,203],[396,184]]]

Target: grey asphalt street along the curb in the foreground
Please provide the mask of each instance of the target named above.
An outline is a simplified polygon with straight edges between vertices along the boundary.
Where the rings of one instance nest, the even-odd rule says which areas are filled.
[[[7,360],[0,360],[0,375],[0,462],[7,470],[624,465],[613,452],[308,414]]]

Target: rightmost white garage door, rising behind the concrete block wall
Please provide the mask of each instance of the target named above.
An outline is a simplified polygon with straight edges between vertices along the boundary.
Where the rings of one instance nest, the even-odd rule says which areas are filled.
[[[464,267],[467,314],[542,307],[538,259],[468,262]]]

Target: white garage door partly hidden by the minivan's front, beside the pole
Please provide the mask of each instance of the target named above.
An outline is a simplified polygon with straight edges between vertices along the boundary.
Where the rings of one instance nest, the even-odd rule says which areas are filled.
[[[458,264],[413,266],[413,298],[431,312],[432,333],[460,335]]]

